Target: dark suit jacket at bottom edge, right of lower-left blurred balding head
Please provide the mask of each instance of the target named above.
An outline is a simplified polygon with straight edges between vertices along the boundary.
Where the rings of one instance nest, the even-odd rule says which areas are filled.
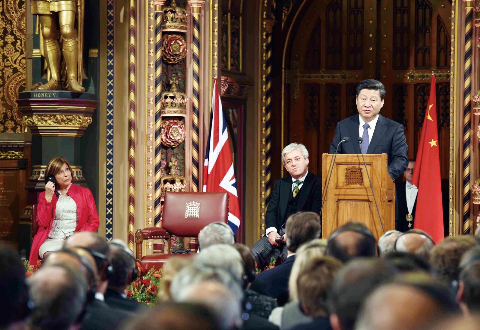
[[[122,321],[132,316],[133,314],[123,310],[108,307],[104,301],[93,299],[92,302],[85,307],[85,316],[80,329],[118,329]]]

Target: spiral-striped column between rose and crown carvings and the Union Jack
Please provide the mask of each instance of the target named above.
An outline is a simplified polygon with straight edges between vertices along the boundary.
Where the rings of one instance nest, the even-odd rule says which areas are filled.
[[[192,9],[192,191],[201,190],[199,186],[199,104],[200,104],[200,15],[204,0],[189,0]],[[200,189],[199,189],[200,187]]]

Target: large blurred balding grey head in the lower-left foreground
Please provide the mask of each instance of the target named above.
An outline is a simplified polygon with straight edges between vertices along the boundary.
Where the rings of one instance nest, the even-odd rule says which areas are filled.
[[[75,271],[61,264],[44,265],[28,278],[28,285],[30,329],[70,329],[80,322],[87,285]]]

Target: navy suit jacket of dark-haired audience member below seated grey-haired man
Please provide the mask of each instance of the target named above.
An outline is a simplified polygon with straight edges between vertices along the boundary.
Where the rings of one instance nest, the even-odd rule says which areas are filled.
[[[278,306],[283,306],[288,301],[288,279],[294,261],[295,255],[287,258],[281,265],[259,273],[255,278],[264,284],[268,296],[277,298]]]

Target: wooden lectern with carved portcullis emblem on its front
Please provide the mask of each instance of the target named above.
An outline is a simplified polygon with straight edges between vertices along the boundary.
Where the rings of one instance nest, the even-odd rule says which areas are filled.
[[[326,195],[326,198],[322,213],[322,237],[328,238],[336,228],[354,220],[365,224],[378,241],[383,235],[382,225],[361,155],[337,155],[332,179],[328,191],[325,191],[334,156],[323,154],[322,196]],[[387,154],[364,157],[387,232],[395,229],[395,182],[387,171]]]

